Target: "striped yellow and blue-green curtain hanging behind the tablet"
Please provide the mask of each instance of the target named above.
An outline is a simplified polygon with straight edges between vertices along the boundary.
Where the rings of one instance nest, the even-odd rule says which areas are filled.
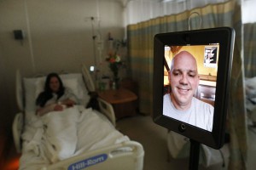
[[[241,1],[241,0],[237,0]],[[236,43],[231,73],[228,125],[230,132],[230,169],[246,169],[247,124],[244,93],[244,68],[242,52],[243,28],[241,24],[241,2],[210,4],[194,8],[181,14],[172,14],[144,21],[127,27],[128,54],[131,62],[131,76],[138,82],[139,109],[144,114],[153,111],[153,43],[154,35],[163,32],[186,31],[188,19],[194,12],[201,14],[201,28],[230,26],[236,30]],[[191,15],[190,26],[200,26],[197,15]]]

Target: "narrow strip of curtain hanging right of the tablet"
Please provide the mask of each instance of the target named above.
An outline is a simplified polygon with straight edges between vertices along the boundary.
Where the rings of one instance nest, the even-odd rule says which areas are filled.
[[[233,24],[231,26],[236,30],[236,40],[230,80],[230,101],[228,105],[228,127],[231,139],[229,169],[247,169],[247,111],[242,53],[244,31],[241,23],[241,6],[235,3],[233,11]]]

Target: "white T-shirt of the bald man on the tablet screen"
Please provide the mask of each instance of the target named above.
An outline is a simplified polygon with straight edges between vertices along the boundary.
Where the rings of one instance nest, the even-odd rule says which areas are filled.
[[[214,107],[212,105],[193,97],[189,110],[179,111],[172,104],[170,94],[164,95],[163,101],[163,115],[212,132],[214,113]]]

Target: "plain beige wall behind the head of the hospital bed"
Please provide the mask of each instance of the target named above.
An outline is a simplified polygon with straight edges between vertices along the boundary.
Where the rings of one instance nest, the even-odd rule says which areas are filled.
[[[94,20],[91,20],[94,17]],[[96,21],[100,20],[100,24]],[[92,36],[97,38],[93,41]],[[94,27],[94,29],[92,29]],[[24,31],[22,41],[13,31]],[[93,33],[93,31],[95,33]],[[93,43],[102,37],[102,60],[108,51],[108,32],[125,35],[123,7],[115,0],[8,0],[0,1],[0,124],[11,127],[18,112],[15,72],[32,76],[50,71],[80,71],[94,65]],[[96,48],[96,56],[99,57]]]

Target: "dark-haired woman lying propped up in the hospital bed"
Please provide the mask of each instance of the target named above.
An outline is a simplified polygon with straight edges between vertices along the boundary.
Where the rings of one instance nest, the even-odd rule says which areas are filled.
[[[63,111],[66,107],[78,104],[77,97],[69,88],[63,86],[61,77],[56,73],[50,73],[46,77],[44,92],[38,95],[36,100],[38,116],[43,116],[49,111]]]

